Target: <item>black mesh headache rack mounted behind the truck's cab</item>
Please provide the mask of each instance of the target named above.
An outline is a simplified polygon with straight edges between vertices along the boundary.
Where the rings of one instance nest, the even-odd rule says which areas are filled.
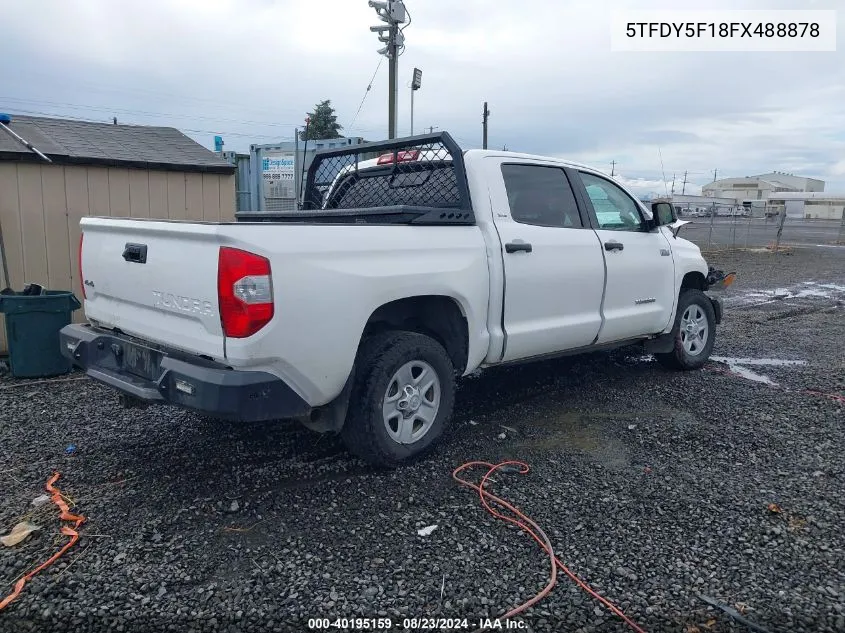
[[[463,152],[447,132],[318,151],[297,211],[239,222],[475,224]]]

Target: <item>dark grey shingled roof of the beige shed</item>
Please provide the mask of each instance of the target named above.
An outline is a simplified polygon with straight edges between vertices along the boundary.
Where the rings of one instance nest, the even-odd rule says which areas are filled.
[[[23,115],[11,115],[11,119],[9,128],[55,163],[214,173],[235,170],[234,165],[171,127]],[[43,162],[10,134],[0,131],[3,160]]]

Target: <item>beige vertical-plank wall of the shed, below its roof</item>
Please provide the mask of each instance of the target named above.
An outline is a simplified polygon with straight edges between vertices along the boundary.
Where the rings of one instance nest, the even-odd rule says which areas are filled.
[[[0,228],[9,280],[82,298],[77,250],[85,216],[231,221],[235,178],[218,174],[0,162]],[[74,321],[84,321],[77,310]],[[0,353],[6,352],[0,315]]]

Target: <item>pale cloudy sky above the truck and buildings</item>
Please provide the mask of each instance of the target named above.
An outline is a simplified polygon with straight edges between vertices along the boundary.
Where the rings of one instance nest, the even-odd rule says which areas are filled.
[[[677,0],[406,0],[399,134],[418,67],[415,132],[434,126],[465,148],[481,146],[487,101],[491,148],[613,170],[640,195],[673,178],[675,193],[697,194],[714,170],[784,171],[845,193],[845,0],[688,4],[836,9],[838,51],[611,51],[614,11]],[[247,151],[291,140],[331,99],[347,136],[387,137],[387,60],[367,0],[0,0],[0,15],[0,111],[116,116]]]

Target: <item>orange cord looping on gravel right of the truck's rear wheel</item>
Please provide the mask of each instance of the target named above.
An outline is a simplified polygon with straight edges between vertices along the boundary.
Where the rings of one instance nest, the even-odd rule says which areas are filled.
[[[463,478],[458,476],[463,471],[465,471],[469,468],[472,468],[474,466],[483,466],[487,469],[487,472],[481,478],[481,483],[475,484],[471,481],[468,481],[468,480],[463,479]],[[566,565],[564,565],[562,562],[560,562],[560,559],[557,556],[555,556],[555,553],[552,550],[552,545],[549,542],[549,538],[546,536],[545,532],[543,532],[543,530],[540,528],[540,526],[538,526],[533,520],[531,520],[529,517],[527,517],[525,514],[523,514],[523,512],[521,510],[519,510],[518,508],[516,508],[514,505],[508,503],[507,501],[505,501],[501,497],[497,497],[496,495],[494,495],[494,494],[492,494],[492,493],[490,493],[490,492],[488,492],[487,490],[484,489],[485,485],[487,484],[487,480],[490,478],[490,476],[493,473],[495,473],[497,470],[501,470],[501,469],[506,468],[506,467],[509,467],[511,469],[514,469],[514,468],[518,469],[515,472],[518,472],[520,475],[525,475],[530,470],[529,467],[528,467],[528,464],[526,464],[525,462],[519,462],[519,461],[507,461],[507,462],[501,462],[499,464],[491,464],[489,462],[473,461],[473,462],[467,462],[466,464],[458,466],[452,472],[452,479],[457,481],[462,486],[466,486],[467,488],[471,488],[471,489],[478,492],[478,496],[481,499],[481,503],[484,506],[485,510],[487,510],[490,514],[492,514],[497,519],[502,519],[503,521],[507,521],[508,523],[512,523],[513,525],[516,525],[517,527],[519,527],[524,532],[527,532],[535,541],[537,541],[537,543],[540,545],[540,547],[542,547],[543,550],[549,555],[549,560],[550,560],[551,565],[552,565],[552,572],[551,572],[551,577],[549,579],[549,583],[546,585],[546,587],[542,591],[540,591],[540,593],[538,593],[536,596],[534,596],[533,598],[531,598],[527,602],[522,603],[518,607],[515,607],[515,608],[511,609],[510,611],[508,611],[507,613],[505,613],[504,615],[500,616],[500,619],[506,620],[508,618],[512,618],[513,616],[517,615],[518,613],[522,613],[526,609],[532,607],[537,602],[539,602],[540,600],[545,598],[551,592],[552,588],[555,586],[555,584],[557,582],[557,570],[558,570],[558,568],[560,568],[560,570],[564,574],[569,576],[569,578],[572,579],[572,581],[575,582],[576,585],[578,585],[581,589],[583,589],[585,592],[590,594],[593,598],[595,598],[596,600],[601,602],[612,613],[614,613],[615,615],[622,618],[622,620],[628,626],[630,626],[634,631],[636,631],[637,633],[645,633],[645,631],[642,628],[640,628],[628,616],[626,616],[624,613],[622,613],[622,611],[619,609],[619,607],[614,605],[607,598],[601,596],[592,587],[590,587],[587,583],[585,583],[578,576],[576,576],[572,571],[570,571],[566,567]],[[488,503],[488,499],[490,501],[492,501],[493,503],[498,504],[498,505],[502,506],[503,508],[510,510],[518,518],[509,517],[505,514],[502,514],[498,510],[494,509]],[[480,630],[483,630],[483,629],[480,629]]]

